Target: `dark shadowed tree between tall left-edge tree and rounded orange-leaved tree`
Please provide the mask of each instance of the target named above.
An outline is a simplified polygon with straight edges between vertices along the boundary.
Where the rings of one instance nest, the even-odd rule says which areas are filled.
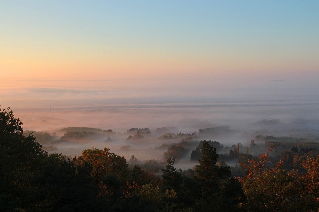
[[[101,211],[108,208],[97,197],[98,187],[85,168],[77,169],[74,160],[50,154],[41,172],[31,180],[37,190],[28,198],[30,211]]]

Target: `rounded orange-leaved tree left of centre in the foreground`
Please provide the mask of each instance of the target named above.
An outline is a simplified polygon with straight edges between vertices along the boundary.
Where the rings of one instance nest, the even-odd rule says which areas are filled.
[[[126,159],[109,152],[107,147],[103,150],[94,147],[84,150],[75,159],[75,166],[82,170],[86,168],[87,174],[93,177],[99,188],[98,196],[112,207],[121,208],[120,211],[143,210],[139,202],[139,191],[144,185],[154,183],[154,177],[145,173],[140,166],[135,165],[130,170]]]

